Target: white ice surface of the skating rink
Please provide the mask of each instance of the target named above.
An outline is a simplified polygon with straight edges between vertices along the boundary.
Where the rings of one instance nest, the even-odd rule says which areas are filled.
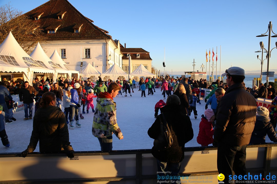
[[[147,134],[149,127],[155,121],[154,107],[155,104],[163,99],[161,95],[161,88],[156,89],[154,95],[147,95],[141,97],[141,92],[138,91],[138,87],[134,89],[134,93],[127,93],[127,97],[115,97],[117,108],[117,123],[123,133],[124,138],[119,140],[113,135],[113,150],[135,150],[135,149],[151,149],[153,146],[153,139]],[[96,106],[96,98],[94,98],[94,107]],[[210,107],[210,105],[209,105]],[[62,108],[63,110],[63,108]],[[201,146],[196,142],[196,137],[199,131],[199,123],[201,121],[201,115],[205,110],[205,102],[201,100],[201,105],[196,104],[196,110],[198,111],[197,119],[194,119],[193,113],[191,116],[192,127],[194,130],[194,137],[191,141],[186,143],[186,147]],[[86,111],[86,107],[85,107]],[[34,114],[34,106],[33,106]],[[98,139],[92,135],[92,123],[93,115],[91,109],[89,114],[83,114],[84,119],[79,118],[79,122],[82,124],[81,128],[74,127],[74,130],[68,129],[69,139],[71,145],[75,151],[99,151],[100,145]],[[178,114],[176,114],[178,116]],[[11,146],[6,148],[0,145],[0,153],[18,153],[24,151],[30,142],[32,134],[33,120],[24,121],[24,110],[20,110],[14,113],[14,118],[17,120],[11,124],[7,124],[6,132]],[[266,142],[271,142],[266,137]],[[210,145],[211,146],[211,145]],[[39,152],[39,143],[35,152]]]

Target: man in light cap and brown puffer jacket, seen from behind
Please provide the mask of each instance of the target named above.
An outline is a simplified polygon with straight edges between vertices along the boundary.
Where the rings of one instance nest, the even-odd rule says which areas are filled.
[[[218,144],[217,170],[226,176],[224,183],[229,183],[227,176],[246,174],[246,146],[255,126],[256,100],[243,88],[242,68],[230,67],[222,74],[226,75],[229,88],[218,104],[214,141]]]

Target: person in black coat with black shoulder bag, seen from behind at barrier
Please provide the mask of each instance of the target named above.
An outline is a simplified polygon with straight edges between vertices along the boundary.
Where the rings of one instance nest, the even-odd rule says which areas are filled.
[[[160,176],[166,173],[171,176],[178,175],[181,161],[184,159],[184,145],[193,138],[191,121],[181,111],[180,103],[178,96],[170,95],[166,100],[166,105],[161,108],[161,113],[164,114],[169,126],[173,144],[170,148],[163,151],[158,151],[155,146],[152,148],[152,155],[157,159]],[[178,116],[172,116],[172,114],[178,114]],[[148,130],[149,137],[153,139],[156,139],[160,134],[160,117],[162,116],[157,116],[157,119]]]

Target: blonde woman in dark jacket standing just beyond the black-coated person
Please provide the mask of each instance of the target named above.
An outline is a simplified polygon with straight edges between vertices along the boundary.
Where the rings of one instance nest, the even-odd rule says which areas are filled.
[[[181,110],[184,114],[188,114],[188,110],[190,110],[188,98],[186,96],[186,89],[182,83],[179,83],[174,90],[173,95],[177,95],[181,102]]]

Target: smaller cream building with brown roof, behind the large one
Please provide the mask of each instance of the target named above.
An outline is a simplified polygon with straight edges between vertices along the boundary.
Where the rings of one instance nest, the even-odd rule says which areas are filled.
[[[124,45],[126,47],[126,44]],[[142,64],[149,72],[152,71],[152,59],[150,53],[142,48],[124,48],[120,44],[122,52],[122,68],[126,73],[129,73],[129,57],[132,59],[133,71]]]

